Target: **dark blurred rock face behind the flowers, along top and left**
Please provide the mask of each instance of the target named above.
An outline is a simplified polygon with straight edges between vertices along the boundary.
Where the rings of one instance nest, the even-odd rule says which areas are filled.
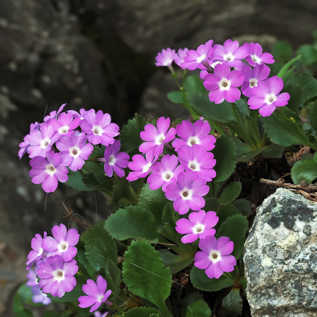
[[[296,49],[312,43],[316,15],[314,0],[0,1],[0,314],[14,316],[35,233],[67,225],[61,201],[87,223],[97,221],[96,207],[99,220],[109,212],[99,193],[59,184],[46,197],[31,183],[18,145],[46,106],[47,113],[65,102],[66,110],[101,109],[120,127],[135,112],[186,118],[166,98],[177,89],[167,68],[154,66],[162,48],[231,38],[266,51],[286,40]]]

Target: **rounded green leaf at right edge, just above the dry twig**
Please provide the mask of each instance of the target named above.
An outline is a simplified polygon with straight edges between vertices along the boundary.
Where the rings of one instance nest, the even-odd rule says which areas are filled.
[[[310,184],[317,177],[317,163],[314,159],[303,159],[295,162],[291,170],[294,184],[299,185],[302,180]]]

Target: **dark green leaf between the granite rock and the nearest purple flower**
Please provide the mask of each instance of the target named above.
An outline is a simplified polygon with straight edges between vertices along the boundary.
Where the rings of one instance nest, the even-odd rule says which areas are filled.
[[[233,242],[232,255],[238,260],[243,254],[243,246],[245,242],[245,235],[248,232],[249,221],[247,217],[242,215],[234,215],[227,218],[222,223],[220,229],[217,232],[217,239],[221,236],[230,238]]]

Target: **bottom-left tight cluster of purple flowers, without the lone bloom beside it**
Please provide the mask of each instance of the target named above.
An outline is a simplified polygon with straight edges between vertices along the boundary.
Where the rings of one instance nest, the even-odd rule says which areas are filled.
[[[65,292],[70,292],[76,286],[74,275],[78,266],[73,257],[77,254],[75,245],[78,243],[79,234],[76,229],[67,230],[62,223],[52,228],[53,237],[44,237],[36,234],[32,239],[32,251],[29,252],[27,264],[27,275],[31,286],[34,302],[49,304],[47,293],[62,297]],[[30,269],[35,263],[35,270]],[[40,278],[37,283],[36,275]],[[41,291],[42,288],[42,291]]]

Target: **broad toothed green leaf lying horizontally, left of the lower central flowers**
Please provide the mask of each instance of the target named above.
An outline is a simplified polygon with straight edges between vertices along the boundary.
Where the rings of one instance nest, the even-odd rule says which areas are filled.
[[[158,228],[152,213],[140,206],[130,205],[117,210],[105,221],[105,229],[120,241],[127,238],[153,241],[158,237]]]

